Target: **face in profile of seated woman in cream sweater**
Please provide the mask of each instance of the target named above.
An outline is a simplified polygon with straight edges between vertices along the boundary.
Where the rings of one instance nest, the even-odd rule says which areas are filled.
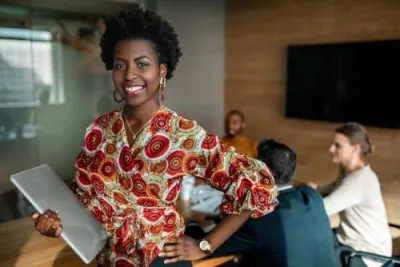
[[[335,133],[329,147],[329,153],[332,156],[333,163],[347,165],[357,155],[357,145],[352,145],[347,136]]]

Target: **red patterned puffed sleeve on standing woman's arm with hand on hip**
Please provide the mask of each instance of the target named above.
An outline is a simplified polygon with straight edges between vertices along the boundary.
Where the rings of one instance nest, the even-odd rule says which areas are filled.
[[[196,126],[200,127],[200,126]],[[198,156],[194,176],[224,192],[221,214],[240,214],[252,211],[252,218],[261,217],[278,205],[278,189],[268,167],[261,161],[235,153],[235,149],[218,137],[200,128]]]

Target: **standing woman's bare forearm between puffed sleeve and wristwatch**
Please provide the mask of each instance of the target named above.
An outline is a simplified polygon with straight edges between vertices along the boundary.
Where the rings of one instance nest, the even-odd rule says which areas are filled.
[[[237,215],[227,215],[215,228],[207,235],[207,240],[211,244],[211,251],[214,252],[221,246],[234,232],[236,232],[251,216],[251,211],[242,211]]]

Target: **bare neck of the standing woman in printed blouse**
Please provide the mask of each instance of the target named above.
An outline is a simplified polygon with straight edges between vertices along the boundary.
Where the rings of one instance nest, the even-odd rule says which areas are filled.
[[[160,109],[160,104],[156,101],[148,101],[140,106],[125,105],[124,112],[127,120],[136,125],[148,122]]]

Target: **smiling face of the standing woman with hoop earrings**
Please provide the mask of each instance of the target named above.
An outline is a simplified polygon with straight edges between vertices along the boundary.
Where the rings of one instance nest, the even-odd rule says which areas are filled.
[[[127,105],[157,101],[160,78],[166,74],[166,65],[159,64],[150,41],[125,40],[116,44],[112,77],[115,89]]]

